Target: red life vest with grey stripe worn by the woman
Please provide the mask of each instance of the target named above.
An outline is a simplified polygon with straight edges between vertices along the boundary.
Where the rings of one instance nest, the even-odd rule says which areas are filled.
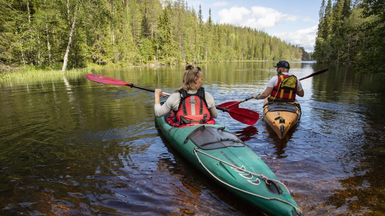
[[[166,121],[175,127],[186,127],[191,125],[209,124],[215,125],[215,120],[211,118],[207,108],[204,88],[201,87],[195,94],[189,94],[183,88],[179,90],[181,101],[176,112],[171,111]]]

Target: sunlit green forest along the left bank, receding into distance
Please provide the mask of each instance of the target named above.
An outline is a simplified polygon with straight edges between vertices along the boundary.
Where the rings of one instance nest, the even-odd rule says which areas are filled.
[[[0,0],[0,68],[301,60],[303,47],[203,20],[184,0]],[[307,53],[306,58],[310,58]]]

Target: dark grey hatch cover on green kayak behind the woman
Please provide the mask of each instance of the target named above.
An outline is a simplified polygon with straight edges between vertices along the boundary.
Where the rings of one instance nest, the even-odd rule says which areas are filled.
[[[214,128],[210,126],[200,126],[192,131],[184,140],[186,144],[191,140],[196,146],[203,150],[226,148],[229,146],[243,147],[244,143],[239,138],[223,128]]]

